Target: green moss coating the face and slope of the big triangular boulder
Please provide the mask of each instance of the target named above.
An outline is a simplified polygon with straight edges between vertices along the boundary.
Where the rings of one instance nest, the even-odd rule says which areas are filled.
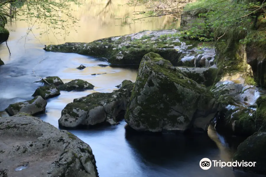
[[[157,64],[156,62],[160,64]],[[152,69],[147,70],[149,72],[142,72],[141,70],[143,68]],[[189,119],[186,116],[183,116],[182,118],[180,116],[179,119],[176,116],[172,117],[171,115],[168,115],[169,112],[171,112],[171,105],[182,104],[182,106],[189,109],[192,106],[190,100],[201,100],[202,98],[205,101],[210,101],[212,99],[215,99],[213,93],[211,93],[205,87],[201,87],[193,80],[184,77],[182,72],[179,69],[172,67],[172,64],[168,60],[165,60],[160,55],[151,52],[146,54],[142,59],[138,72],[141,73],[141,75],[139,74],[136,80],[137,88],[139,89],[136,89],[135,84],[130,99],[131,102],[133,99],[141,97],[140,88],[147,87],[147,85],[145,85],[146,83],[148,83],[149,86],[154,85],[151,81],[148,80],[151,72],[155,74],[160,73],[160,75],[162,75],[162,77],[165,79],[162,79],[156,83],[156,89],[151,87],[153,89],[153,96],[147,93],[147,95],[145,96],[145,102],[136,103],[136,106],[140,106],[140,109],[138,110],[138,118],[134,118],[136,126],[140,126],[140,124],[142,124],[146,125],[148,129],[155,129],[160,126],[164,126],[162,124],[166,125],[169,123],[171,125],[174,125],[181,124],[181,122],[189,122]],[[180,86],[180,89],[174,89],[176,88],[176,85]],[[198,97],[195,98],[195,95],[197,95]],[[154,109],[154,107],[156,107],[157,109]],[[131,106],[128,107],[125,115],[126,121],[131,119],[130,115],[132,109],[134,108],[131,108]],[[167,119],[167,121],[162,121],[162,123],[161,120],[163,118]],[[181,121],[181,119],[183,119],[183,121]]]

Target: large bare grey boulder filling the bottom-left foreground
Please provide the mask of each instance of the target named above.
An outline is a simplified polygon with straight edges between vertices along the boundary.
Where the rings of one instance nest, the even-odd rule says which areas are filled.
[[[0,136],[0,170],[7,176],[98,177],[90,146],[38,117],[0,119]]]

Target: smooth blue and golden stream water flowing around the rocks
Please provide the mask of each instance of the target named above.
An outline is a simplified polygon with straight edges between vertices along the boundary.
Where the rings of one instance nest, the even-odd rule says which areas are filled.
[[[134,17],[134,11],[144,7],[129,7],[126,1],[86,0],[85,6],[72,5],[72,14],[80,19],[77,33],[74,30],[66,37],[54,37],[52,34],[35,37],[27,32],[27,24],[13,21],[7,25],[10,38],[7,42],[11,55],[5,44],[0,45],[0,57],[5,65],[0,67],[0,111],[9,104],[32,99],[32,94],[40,84],[33,83],[39,77],[59,76],[64,82],[83,79],[93,85],[92,91],[61,91],[61,95],[48,99],[46,112],[39,115],[43,121],[58,127],[61,110],[74,98],[93,92],[111,92],[124,79],[135,81],[137,70],[126,68],[99,67],[107,64],[105,60],[72,53],[45,52],[44,44],[64,42],[91,42],[104,37],[125,35],[141,30],[157,30],[171,25],[170,17],[149,19],[140,23],[121,25],[128,22],[126,17]],[[120,5],[119,5],[120,4]],[[79,26],[77,25],[77,26]],[[21,39],[22,38],[22,39]],[[87,66],[77,70],[80,64]],[[97,76],[91,74],[107,73]],[[7,116],[1,112],[2,116]],[[242,138],[219,135],[209,127],[208,135],[132,135],[121,122],[114,127],[95,127],[90,130],[69,130],[81,140],[88,143],[95,155],[100,177],[240,177],[258,176],[232,171],[231,168],[210,168],[204,171],[199,162],[202,158],[231,161],[232,155]]]

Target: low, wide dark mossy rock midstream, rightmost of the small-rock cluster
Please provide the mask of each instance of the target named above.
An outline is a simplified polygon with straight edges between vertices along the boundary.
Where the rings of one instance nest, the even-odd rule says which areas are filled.
[[[72,90],[91,90],[94,85],[81,79],[75,79],[70,82],[64,83],[57,87],[59,90],[72,91]]]

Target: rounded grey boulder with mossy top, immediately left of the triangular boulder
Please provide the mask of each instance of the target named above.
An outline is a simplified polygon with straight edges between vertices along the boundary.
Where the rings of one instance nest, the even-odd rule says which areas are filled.
[[[63,127],[91,126],[102,122],[118,124],[126,110],[134,83],[123,81],[112,93],[92,93],[74,99],[62,110],[59,125]]]

